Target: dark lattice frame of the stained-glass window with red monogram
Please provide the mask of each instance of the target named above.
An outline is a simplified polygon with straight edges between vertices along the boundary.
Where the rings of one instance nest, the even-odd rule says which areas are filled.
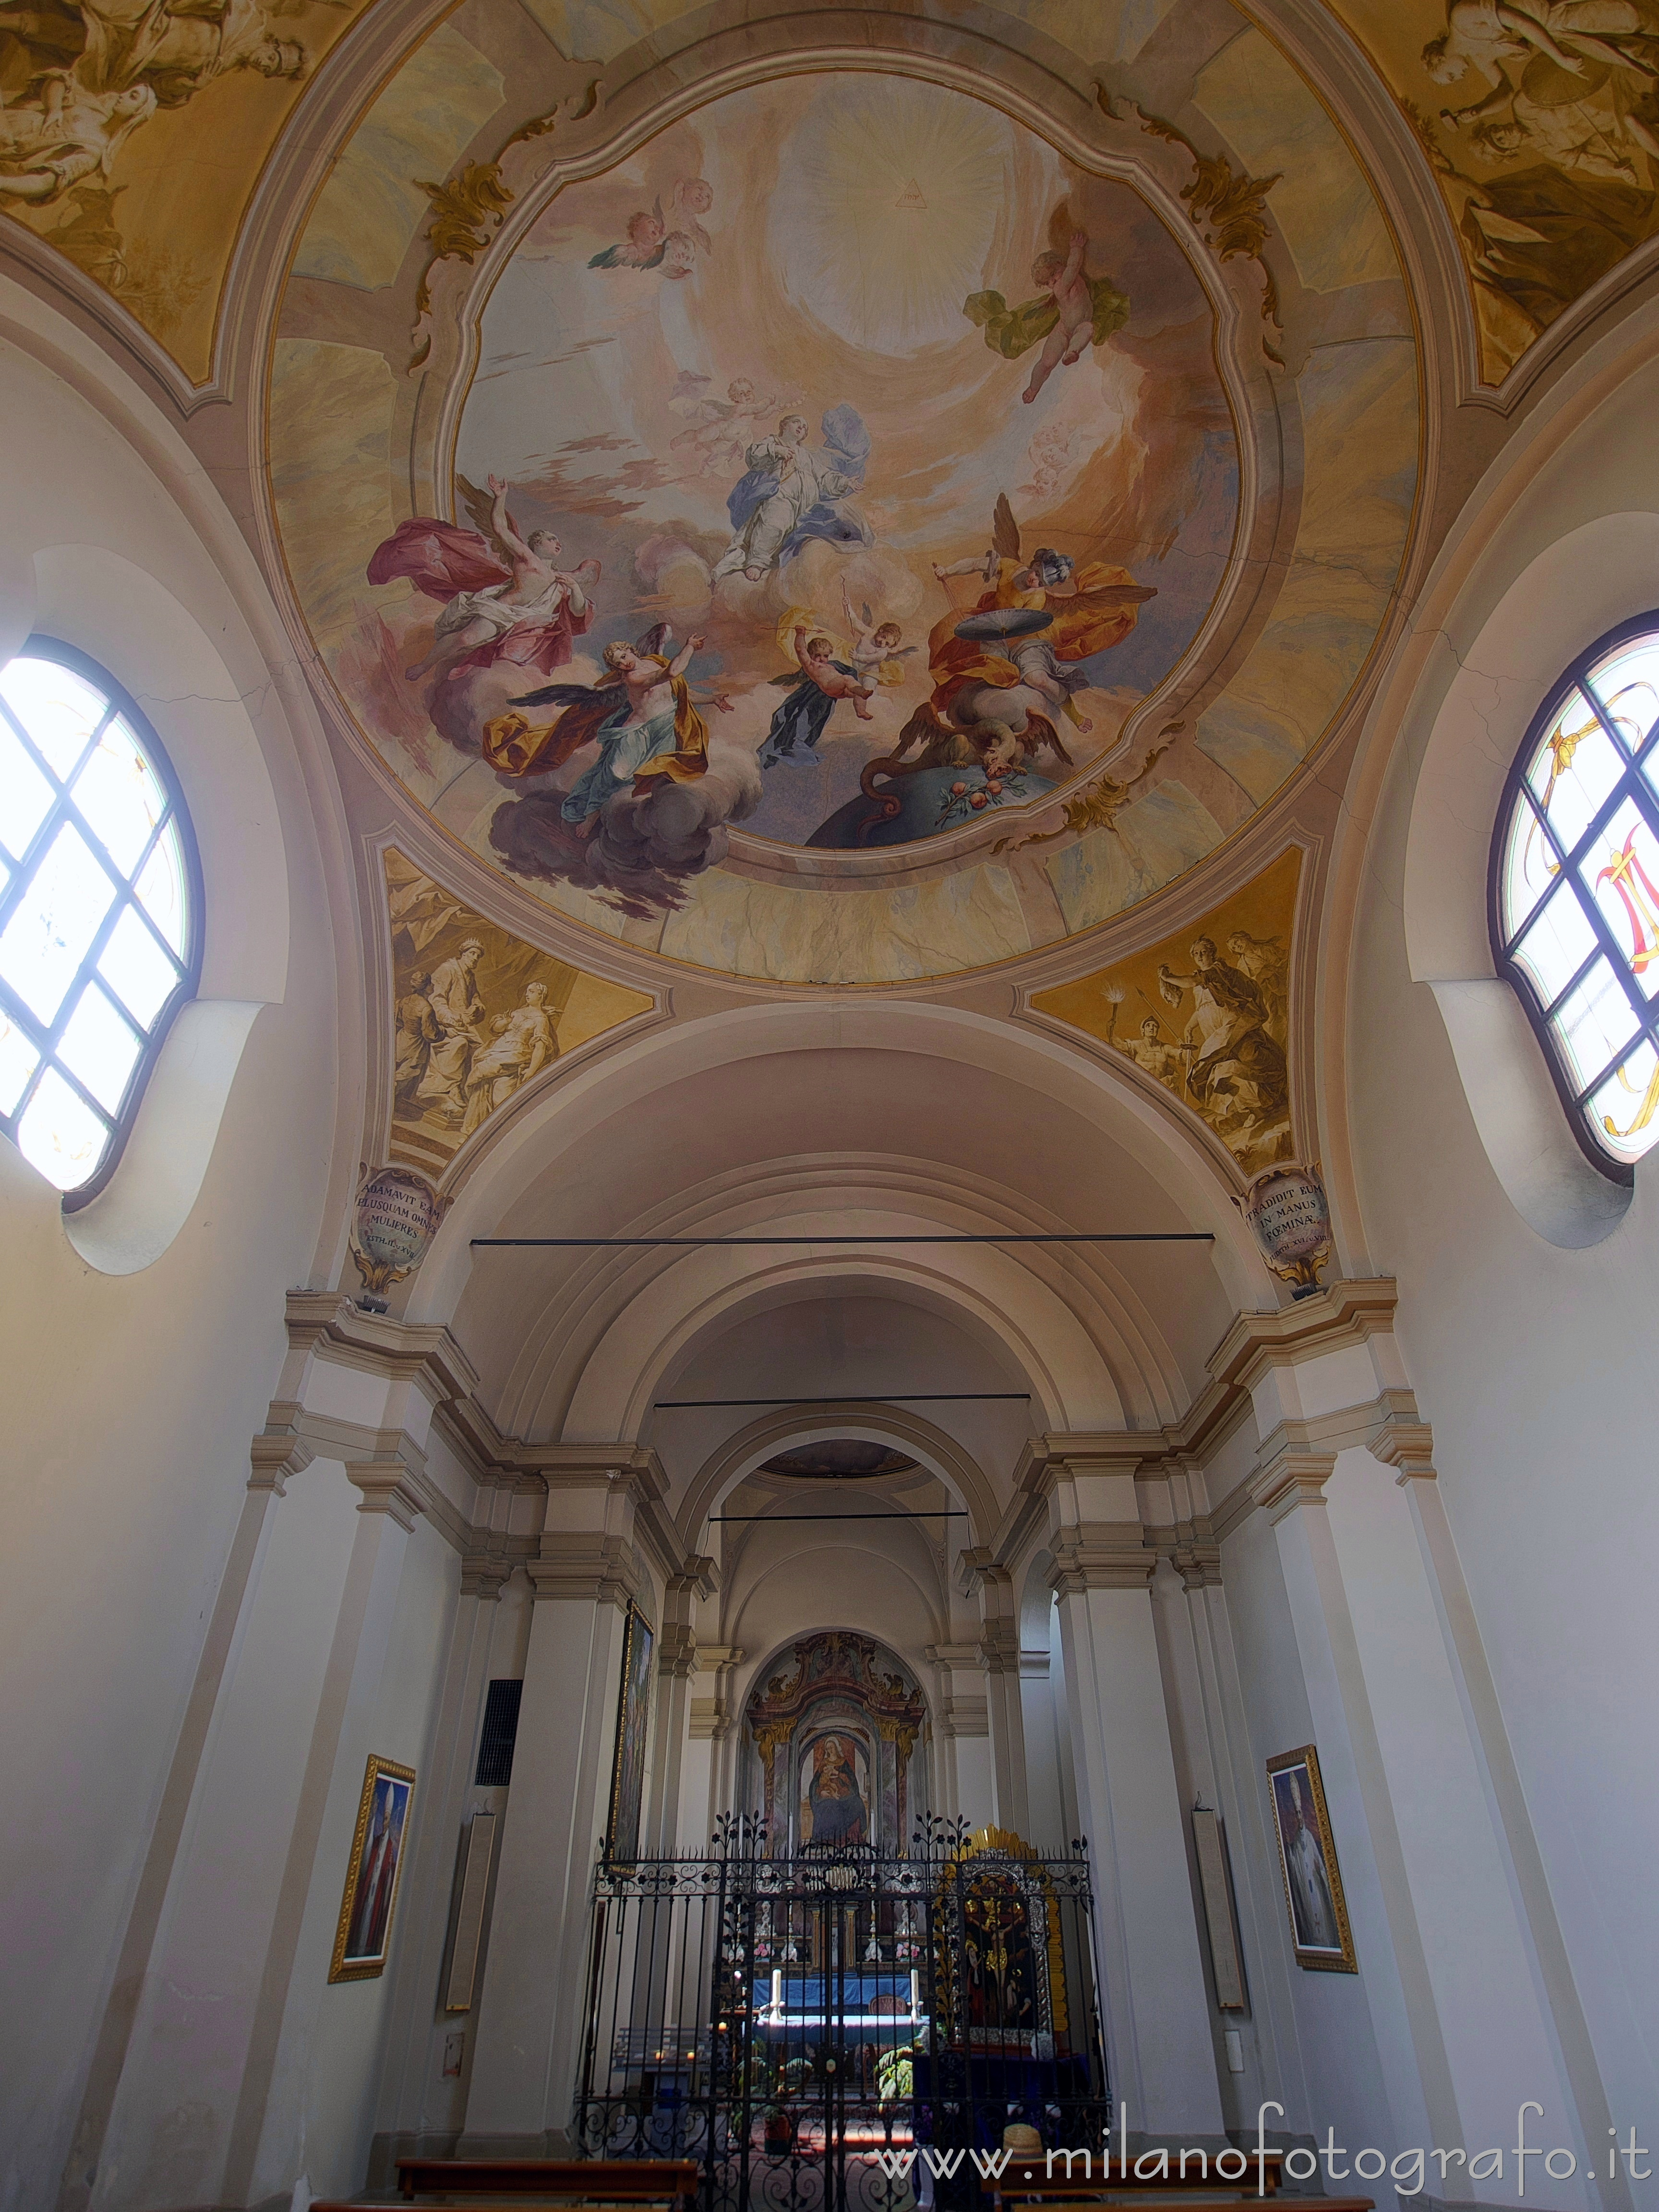
[[[1555,684],[1551,684],[1548,692],[1544,695],[1544,701],[1540,703],[1537,712],[1526,726],[1526,734],[1515,748],[1515,759],[1509,763],[1509,774],[1504,776],[1504,790],[1498,801],[1498,814],[1493,821],[1491,847],[1486,856],[1486,933],[1491,942],[1493,967],[1498,969],[1498,975],[1515,991],[1515,998],[1520,1000],[1526,1013],[1526,1022],[1544,1055],[1551,1082],[1555,1084],[1555,1095],[1562,1102],[1562,1113],[1566,1115],[1566,1124],[1573,1130],[1579,1150],[1597,1170],[1597,1175],[1604,1175],[1610,1183],[1619,1183],[1624,1188],[1630,1188],[1635,1183],[1635,1172],[1639,1161],[1619,1159],[1617,1152],[1608,1150],[1601,1144],[1599,1135],[1590,1124],[1588,1102],[1595,1097],[1601,1084],[1606,1084],[1608,1077],[1619,1066],[1624,1066],[1630,1053],[1639,1051],[1644,1040],[1650,1042],[1655,1048],[1659,1048],[1659,993],[1652,1000],[1646,998],[1641,984],[1632,975],[1628,953],[1624,951],[1617,936],[1608,927],[1608,920],[1601,914],[1599,902],[1579,885],[1577,874],[1573,874],[1571,878],[1573,898],[1577,900],[1579,911],[1584,914],[1595,933],[1595,949],[1586,956],[1586,960],[1579,964],[1573,978],[1562,987],[1555,1000],[1544,1000],[1533,978],[1513,958],[1513,949],[1526,936],[1528,927],[1542,911],[1544,900],[1540,898],[1537,905],[1526,916],[1522,916],[1513,933],[1509,938],[1504,936],[1504,856],[1509,849],[1511,825],[1515,821],[1517,810],[1522,807],[1531,810],[1531,799],[1526,794],[1526,770],[1533,757],[1537,754],[1537,748],[1544,743],[1551,728],[1555,726],[1562,708],[1566,706],[1566,699],[1575,690],[1584,697],[1586,706],[1595,714],[1601,730],[1606,730],[1610,743],[1619,750],[1626,765],[1617,776],[1617,781],[1613,783],[1606,799],[1597,805],[1595,814],[1586,823],[1577,845],[1573,845],[1571,852],[1562,852],[1553,830],[1544,825],[1542,814],[1537,816],[1544,836],[1551,841],[1559,858],[1559,872],[1568,874],[1573,854],[1582,852],[1586,845],[1593,843],[1601,825],[1619,810],[1619,805],[1626,799],[1635,799],[1637,812],[1646,818],[1655,838],[1659,838],[1659,787],[1655,787],[1655,783],[1650,783],[1644,774],[1644,763],[1648,761],[1652,761],[1655,768],[1659,768],[1659,714],[1655,714],[1641,743],[1635,750],[1628,750],[1624,739],[1617,734],[1599,692],[1590,686],[1590,670],[1597,666],[1597,661],[1608,659],[1608,655],[1617,653],[1624,646],[1635,644],[1641,637],[1652,637],[1655,646],[1659,648],[1659,608],[1650,608],[1648,613],[1641,615],[1630,615],[1626,622],[1619,622],[1610,630],[1604,630],[1590,646],[1584,648],[1584,653],[1577,655],[1577,659],[1573,659],[1562,670]],[[1630,1000],[1632,1011],[1637,1013],[1639,1026],[1637,1033],[1624,1044],[1619,1055],[1608,1066],[1599,1068],[1595,1077],[1584,1086],[1584,1091],[1575,1091],[1573,1075],[1566,1066],[1566,1057],[1555,1040],[1551,1006],[1562,1004],[1562,1000],[1590,971],[1597,956],[1604,956],[1610,962],[1615,980],[1619,982],[1626,998]]]

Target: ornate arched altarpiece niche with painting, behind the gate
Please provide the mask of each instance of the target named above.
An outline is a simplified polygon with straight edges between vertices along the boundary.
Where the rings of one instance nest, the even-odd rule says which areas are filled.
[[[821,1628],[763,1666],[743,1708],[743,1803],[774,1856],[902,1854],[927,1812],[927,1697],[874,1637]]]

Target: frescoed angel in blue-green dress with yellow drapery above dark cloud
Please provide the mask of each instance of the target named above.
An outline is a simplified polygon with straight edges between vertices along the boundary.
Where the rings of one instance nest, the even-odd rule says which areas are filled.
[[[546,684],[524,692],[513,708],[557,706],[560,712],[540,730],[520,712],[498,714],[484,723],[484,759],[502,776],[546,776],[595,741],[599,759],[560,807],[582,836],[593,834],[599,810],[619,792],[646,799],[664,781],[690,783],[706,774],[708,726],[686,684],[703,639],[688,637],[672,661],[661,653],[666,644],[670,633],[657,624],[637,646],[606,646],[606,672],[597,684]]]

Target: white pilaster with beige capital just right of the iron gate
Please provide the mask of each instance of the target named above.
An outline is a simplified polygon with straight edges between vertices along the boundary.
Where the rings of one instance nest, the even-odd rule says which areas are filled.
[[[1221,2132],[1221,2090],[1137,1464],[1062,1453],[1040,1480],[1077,1814],[1093,1863],[1106,2066],[1130,2132],[1201,2137]]]

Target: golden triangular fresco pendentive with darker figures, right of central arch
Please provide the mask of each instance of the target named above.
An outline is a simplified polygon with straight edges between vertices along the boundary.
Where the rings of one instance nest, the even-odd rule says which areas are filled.
[[[1281,854],[1190,929],[1031,1004],[1133,1060],[1245,1175],[1294,1159],[1290,951],[1301,852]]]

